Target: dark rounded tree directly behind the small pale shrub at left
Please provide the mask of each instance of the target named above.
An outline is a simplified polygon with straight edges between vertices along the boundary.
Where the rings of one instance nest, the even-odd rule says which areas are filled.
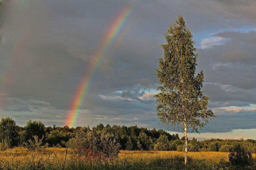
[[[27,143],[29,140],[35,140],[34,136],[37,136],[39,139],[44,139],[44,136],[46,136],[45,125],[41,121],[32,122],[29,120],[21,135],[22,143]],[[44,143],[45,141],[42,140],[42,142]]]

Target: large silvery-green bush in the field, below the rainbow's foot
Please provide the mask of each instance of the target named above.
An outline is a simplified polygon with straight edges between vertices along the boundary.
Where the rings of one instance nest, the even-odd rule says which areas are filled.
[[[86,132],[83,127],[72,140],[72,148],[77,155],[90,159],[114,159],[121,146],[115,133],[106,132],[105,129]]]

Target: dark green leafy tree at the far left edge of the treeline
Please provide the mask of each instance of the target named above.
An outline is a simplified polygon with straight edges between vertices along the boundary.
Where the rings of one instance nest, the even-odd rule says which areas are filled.
[[[19,135],[17,132],[16,122],[9,116],[1,119],[0,122],[0,141],[8,147],[14,147],[18,144]]]

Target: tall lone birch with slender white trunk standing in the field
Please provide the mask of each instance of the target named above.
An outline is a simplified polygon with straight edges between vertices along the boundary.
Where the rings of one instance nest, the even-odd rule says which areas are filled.
[[[195,76],[196,60],[195,42],[189,28],[180,15],[164,34],[167,44],[163,44],[164,59],[159,58],[159,70],[156,76],[161,83],[156,98],[157,116],[164,126],[184,129],[185,164],[187,164],[187,132],[198,132],[208,123],[208,119],[216,117],[207,110],[209,97],[203,96],[203,71]]]

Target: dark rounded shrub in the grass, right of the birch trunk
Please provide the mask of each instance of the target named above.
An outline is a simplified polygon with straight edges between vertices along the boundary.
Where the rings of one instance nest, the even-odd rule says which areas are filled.
[[[234,143],[233,147],[230,148],[228,158],[232,165],[237,167],[245,167],[249,165],[252,154],[247,150],[246,147],[237,142]]]

